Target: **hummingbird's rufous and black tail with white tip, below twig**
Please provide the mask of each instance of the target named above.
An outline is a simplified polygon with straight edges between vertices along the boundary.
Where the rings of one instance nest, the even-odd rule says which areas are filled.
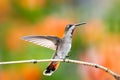
[[[43,72],[43,75],[51,76],[52,73],[58,68],[60,62],[50,62],[49,66]]]

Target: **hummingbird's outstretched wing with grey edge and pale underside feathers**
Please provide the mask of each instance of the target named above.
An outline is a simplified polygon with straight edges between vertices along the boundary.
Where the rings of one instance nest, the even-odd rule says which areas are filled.
[[[35,43],[37,45],[56,50],[61,39],[55,36],[24,36],[23,40]]]

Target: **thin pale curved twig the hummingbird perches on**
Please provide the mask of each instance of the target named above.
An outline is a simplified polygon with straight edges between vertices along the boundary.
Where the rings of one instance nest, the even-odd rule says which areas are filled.
[[[112,75],[115,80],[120,80],[120,75],[116,74],[115,72],[111,71],[110,69],[95,64],[95,63],[89,63],[89,62],[84,62],[84,61],[78,61],[78,60],[71,60],[71,59],[43,59],[43,60],[21,60],[21,61],[9,61],[9,62],[0,62],[0,65],[3,64],[20,64],[20,63],[38,63],[38,62],[49,62],[49,61],[61,61],[61,62],[67,62],[67,63],[76,63],[76,64],[80,64],[80,65],[86,65],[86,66],[91,66],[91,67],[95,67],[98,69],[101,69],[105,72],[107,72],[108,74]]]

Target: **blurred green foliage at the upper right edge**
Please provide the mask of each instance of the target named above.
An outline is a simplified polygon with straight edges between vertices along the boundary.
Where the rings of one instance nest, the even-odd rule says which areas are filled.
[[[111,33],[120,32],[120,1],[116,0],[113,6],[108,10],[104,16],[104,21],[107,24],[106,31]]]

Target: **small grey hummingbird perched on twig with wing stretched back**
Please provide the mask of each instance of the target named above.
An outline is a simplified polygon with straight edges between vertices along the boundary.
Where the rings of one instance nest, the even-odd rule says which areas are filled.
[[[52,56],[52,59],[65,59],[71,49],[72,35],[74,30],[77,26],[84,24],[86,23],[66,25],[62,38],[58,38],[56,36],[23,36],[22,39],[54,50],[55,52]],[[59,64],[59,61],[51,61],[43,72],[43,75],[51,76],[52,73],[57,70]]]

